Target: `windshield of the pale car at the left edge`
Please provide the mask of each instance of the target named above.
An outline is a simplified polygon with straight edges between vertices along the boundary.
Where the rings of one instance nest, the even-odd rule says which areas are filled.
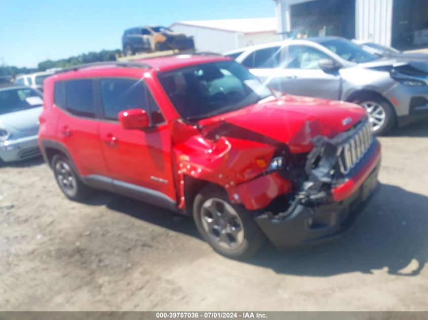
[[[42,94],[34,89],[0,90],[0,114],[40,107],[42,104]]]

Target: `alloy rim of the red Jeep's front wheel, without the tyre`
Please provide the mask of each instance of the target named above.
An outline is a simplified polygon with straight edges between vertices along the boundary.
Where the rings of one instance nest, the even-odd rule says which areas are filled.
[[[235,249],[244,241],[244,229],[236,210],[226,201],[211,198],[201,208],[201,221],[205,232],[226,249]]]

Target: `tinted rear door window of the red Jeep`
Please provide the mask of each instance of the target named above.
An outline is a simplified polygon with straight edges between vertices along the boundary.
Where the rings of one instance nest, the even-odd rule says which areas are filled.
[[[71,114],[95,118],[92,79],[65,81],[65,106]]]

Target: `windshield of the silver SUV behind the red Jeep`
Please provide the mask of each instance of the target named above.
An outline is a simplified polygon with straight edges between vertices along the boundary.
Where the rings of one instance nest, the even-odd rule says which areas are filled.
[[[347,61],[363,63],[378,59],[376,55],[365,51],[358,44],[346,39],[327,40],[320,42],[320,44]]]

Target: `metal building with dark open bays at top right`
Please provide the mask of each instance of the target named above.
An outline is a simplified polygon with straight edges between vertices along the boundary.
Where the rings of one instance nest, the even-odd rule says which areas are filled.
[[[369,40],[399,49],[428,44],[428,0],[274,0],[278,32]]]

